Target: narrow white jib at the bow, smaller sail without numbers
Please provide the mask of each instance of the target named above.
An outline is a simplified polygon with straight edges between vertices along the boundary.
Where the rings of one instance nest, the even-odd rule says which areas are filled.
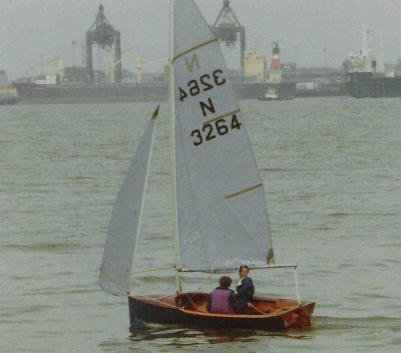
[[[154,139],[156,108],[125,174],[110,219],[99,284],[110,294],[127,295]]]

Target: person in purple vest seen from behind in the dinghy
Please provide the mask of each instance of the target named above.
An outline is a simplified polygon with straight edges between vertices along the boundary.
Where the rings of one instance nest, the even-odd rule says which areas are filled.
[[[235,314],[236,298],[234,290],[229,287],[231,278],[223,276],[219,280],[220,286],[208,295],[207,309],[216,314]]]

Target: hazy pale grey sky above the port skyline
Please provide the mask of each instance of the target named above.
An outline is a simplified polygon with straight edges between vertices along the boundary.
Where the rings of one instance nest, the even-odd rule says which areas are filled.
[[[121,32],[122,53],[139,50],[142,63],[168,55],[169,0],[0,0],[0,70],[9,79],[28,75],[40,63],[55,66],[54,58],[82,64],[81,43],[95,20],[99,3],[106,18]],[[213,24],[223,0],[195,0]],[[272,41],[278,41],[282,61],[298,66],[340,67],[351,51],[362,45],[362,25],[371,28],[374,47],[385,62],[401,57],[401,1],[399,0],[231,0],[241,25],[246,27],[246,50],[256,42],[270,61]],[[224,44],[223,44],[224,45]],[[239,41],[224,47],[229,68],[239,68]],[[104,69],[112,52],[94,50],[94,64]],[[161,72],[164,62],[143,71]],[[135,54],[122,62],[136,72]]]

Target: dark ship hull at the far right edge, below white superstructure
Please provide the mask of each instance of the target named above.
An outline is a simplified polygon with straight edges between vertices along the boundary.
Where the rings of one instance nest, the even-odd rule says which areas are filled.
[[[348,93],[355,98],[400,97],[401,77],[375,76],[371,72],[348,74]]]

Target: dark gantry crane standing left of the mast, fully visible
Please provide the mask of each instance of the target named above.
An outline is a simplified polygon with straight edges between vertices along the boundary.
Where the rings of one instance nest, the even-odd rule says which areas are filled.
[[[93,29],[94,28],[94,29]],[[88,81],[93,83],[94,70],[92,58],[92,44],[99,44],[102,49],[109,49],[114,43],[115,48],[115,81],[121,82],[121,33],[115,30],[104,15],[103,5],[99,5],[99,12],[96,15],[95,22],[86,32],[86,69],[88,72]]]

